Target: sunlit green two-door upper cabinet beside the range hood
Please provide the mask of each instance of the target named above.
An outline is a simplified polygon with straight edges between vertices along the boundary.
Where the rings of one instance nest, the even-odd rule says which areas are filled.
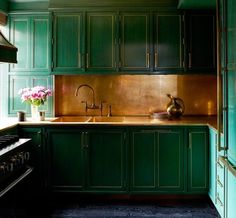
[[[10,40],[18,48],[17,64],[10,64],[10,72],[50,72],[50,26],[48,13],[10,15]]]

